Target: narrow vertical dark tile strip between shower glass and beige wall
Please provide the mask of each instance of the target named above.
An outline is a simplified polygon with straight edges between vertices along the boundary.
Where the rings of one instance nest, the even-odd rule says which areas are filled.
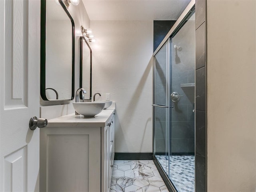
[[[195,191],[207,191],[206,0],[196,0],[196,154]]]

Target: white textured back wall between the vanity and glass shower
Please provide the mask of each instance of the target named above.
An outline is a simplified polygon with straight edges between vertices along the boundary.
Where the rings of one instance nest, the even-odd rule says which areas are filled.
[[[91,21],[92,92],[116,102],[115,152],[152,152],[152,21]]]

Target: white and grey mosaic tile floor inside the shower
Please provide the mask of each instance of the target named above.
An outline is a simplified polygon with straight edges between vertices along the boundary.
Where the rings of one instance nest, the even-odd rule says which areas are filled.
[[[156,158],[166,170],[166,164],[168,165],[166,156],[156,155]],[[194,175],[195,156],[170,156],[169,178],[178,192],[194,192]]]

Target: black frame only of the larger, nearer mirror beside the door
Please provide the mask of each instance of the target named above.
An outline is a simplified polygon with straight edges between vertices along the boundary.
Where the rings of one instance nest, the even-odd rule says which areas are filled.
[[[75,92],[75,24],[72,16],[68,12],[66,6],[59,0],[60,5],[70,18],[72,24],[72,88],[71,88],[71,98],[70,99],[61,99],[61,100],[54,100],[54,101],[65,101],[65,100],[73,100],[74,99],[74,92]],[[49,101],[46,97],[46,86],[45,86],[45,61],[46,61],[46,0],[41,0],[41,51],[40,51],[40,95],[43,100]],[[52,101],[52,100],[51,100]]]

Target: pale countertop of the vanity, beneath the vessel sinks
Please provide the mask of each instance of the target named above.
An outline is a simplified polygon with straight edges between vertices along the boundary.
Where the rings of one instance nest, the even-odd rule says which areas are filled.
[[[48,120],[47,127],[104,127],[115,110],[115,108],[107,108],[94,117],[84,117],[74,113],[64,115]]]

